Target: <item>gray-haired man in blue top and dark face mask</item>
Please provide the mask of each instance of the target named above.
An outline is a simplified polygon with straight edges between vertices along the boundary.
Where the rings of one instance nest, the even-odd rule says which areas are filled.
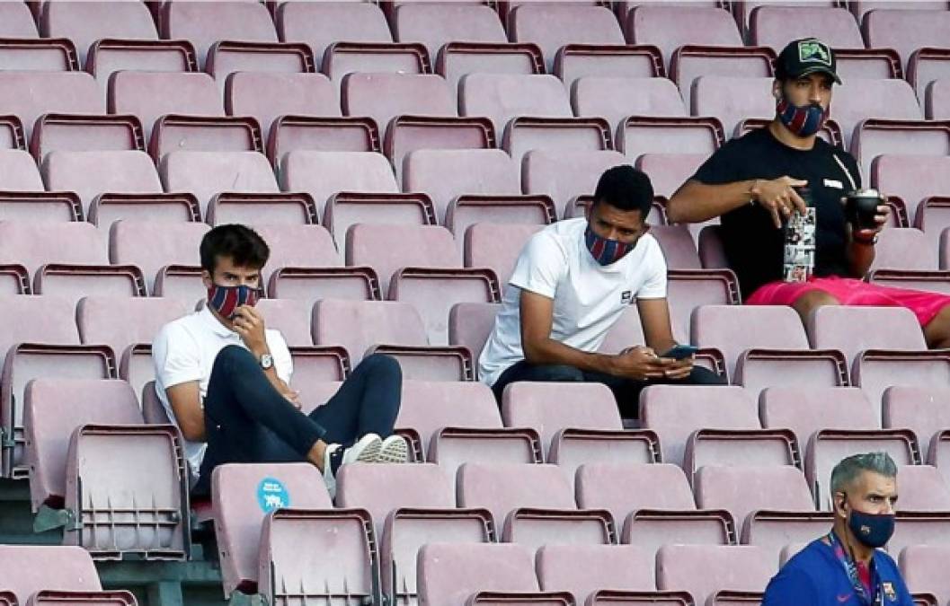
[[[897,564],[878,549],[894,534],[897,466],[886,452],[831,471],[834,526],[771,579],[763,606],[913,606]]]

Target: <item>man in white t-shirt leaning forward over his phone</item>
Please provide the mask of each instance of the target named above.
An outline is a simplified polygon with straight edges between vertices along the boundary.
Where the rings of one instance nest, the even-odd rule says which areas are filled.
[[[646,174],[616,166],[600,176],[586,218],[558,222],[524,246],[504,287],[502,309],[479,358],[482,380],[502,401],[516,381],[594,381],[638,416],[650,383],[721,384],[711,371],[659,354],[675,347],[666,302],[666,261],[648,233],[653,202]],[[637,304],[646,345],[599,354],[607,332]]]

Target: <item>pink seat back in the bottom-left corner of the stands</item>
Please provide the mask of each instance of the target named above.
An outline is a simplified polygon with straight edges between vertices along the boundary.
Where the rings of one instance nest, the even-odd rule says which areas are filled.
[[[0,557],[7,562],[0,571],[0,585],[23,604],[44,589],[83,592],[102,589],[92,558],[81,547],[0,545]]]

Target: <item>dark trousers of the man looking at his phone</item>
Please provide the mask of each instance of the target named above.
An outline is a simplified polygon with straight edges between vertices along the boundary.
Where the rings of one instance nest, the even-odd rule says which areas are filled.
[[[522,360],[510,367],[498,377],[491,391],[495,394],[498,405],[502,405],[504,388],[517,381],[542,382],[587,382],[603,383],[614,392],[620,416],[623,418],[639,417],[640,392],[650,385],[725,385],[726,379],[718,376],[707,368],[693,367],[690,376],[681,379],[658,378],[637,381],[632,378],[606,375],[604,373],[588,373],[567,366],[566,364],[535,365]]]

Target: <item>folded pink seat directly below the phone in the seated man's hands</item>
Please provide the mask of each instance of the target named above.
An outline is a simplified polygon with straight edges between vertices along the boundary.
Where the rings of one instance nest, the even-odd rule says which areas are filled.
[[[662,460],[687,477],[703,465],[742,465],[750,456],[761,465],[794,463],[793,434],[762,430],[755,403],[739,387],[650,386],[640,397],[640,421],[659,436]]]

